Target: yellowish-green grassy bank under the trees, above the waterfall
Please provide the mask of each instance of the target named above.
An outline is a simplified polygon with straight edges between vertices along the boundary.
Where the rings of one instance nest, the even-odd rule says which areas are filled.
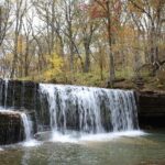
[[[140,73],[140,77],[144,82],[144,87],[140,88],[134,82],[136,78],[133,70],[130,68],[118,69],[116,72],[117,81],[114,88],[139,89],[139,90],[165,90],[165,73],[158,73],[155,77],[151,77],[148,73]],[[19,80],[32,80],[35,82],[53,82],[53,84],[69,84],[92,87],[107,87],[109,72],[105,70],[102,77],[100,70],[90,73],[61,73],[50,79],[46,79],[42,74],[30,77],[19,78]],[[121,79],[121,80],[120,80]]]

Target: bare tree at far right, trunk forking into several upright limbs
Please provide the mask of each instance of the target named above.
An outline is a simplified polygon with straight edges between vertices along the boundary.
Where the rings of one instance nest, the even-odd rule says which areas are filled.
[[[150,63],[155,66],[156,68],[160,67],[160,58],[158,58],[158,43],[161,38],[161,34],[163,32],[163,22],[164,22],[164,9],[165,9],[165,1],[157,0],[157,1],[150,1],[150,0],[142,0],[141,3],[138,3],[134,0],[129,0],[129,2],[139,10],[143,15],[141,16],[141,21],[135,19],[136,12],[132,13],[133,21],[138,25],[139,30],[143,30],[145,35],[147,34],[147,42],[148,42],[148,55]],[[142,23],[143,22],[143,23]]]

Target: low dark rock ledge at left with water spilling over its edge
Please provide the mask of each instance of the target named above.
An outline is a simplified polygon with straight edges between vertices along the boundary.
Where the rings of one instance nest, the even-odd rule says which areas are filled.
[[[0,107],[0,144],[32,139],[32,121],[25,112]]]

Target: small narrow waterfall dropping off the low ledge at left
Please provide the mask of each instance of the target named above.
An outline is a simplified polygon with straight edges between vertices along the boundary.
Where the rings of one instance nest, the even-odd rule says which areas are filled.
[[[21,112],[20,116],[24,128],[25,141],[30,141],[32,139],[32,122],[26,113]]]

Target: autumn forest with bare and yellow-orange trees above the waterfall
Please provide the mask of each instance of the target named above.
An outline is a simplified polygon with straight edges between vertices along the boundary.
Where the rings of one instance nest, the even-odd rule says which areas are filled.
[[[1,0],[0,77],[165,89],[165,1]]]

